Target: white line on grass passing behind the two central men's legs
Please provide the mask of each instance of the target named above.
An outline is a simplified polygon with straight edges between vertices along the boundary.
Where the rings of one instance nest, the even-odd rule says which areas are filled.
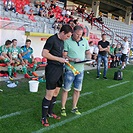
[[[93,92],[86,92],[86,93],[82,93],[80,95],[80,97],[83,97],[83,96],[86,96],[86,95],[89,95],[89,94],[92,94]],[[68,97],[67,100],[71,100],[72,97]],[[58,100],[56,103],[61,103],[60,100]],[[20,115],[22,113],[27,113],[29,112],[31,109],[26,109],[26,110],[23,110],[23,111],[17,111],[17,112],[14,112],[14,113],[11,113],[11,114],[7,114],[7,115],[3,115],[3,116],[0,116],[0,120],[1,119],[5,119],[5,118],[9,118],[9,117],[12,117],[12,116],[16,116],[16,115]]]

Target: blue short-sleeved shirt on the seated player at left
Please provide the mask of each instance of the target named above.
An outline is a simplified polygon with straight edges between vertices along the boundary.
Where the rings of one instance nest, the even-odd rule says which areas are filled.
[[[24,56],[22,56],[23,59],[29,59],[29,58],[31,58],[31,55],[33,53],[33,49],[31,47],[27,48],[26,46],[22,46],[21,47],[21,51],[22,51],[22,53],[25,53],[25,52],[28,51],[27,54],[25,54]]]

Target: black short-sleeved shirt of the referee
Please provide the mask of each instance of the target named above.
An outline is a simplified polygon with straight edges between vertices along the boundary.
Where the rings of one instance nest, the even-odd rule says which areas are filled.
[[[44,45],[43,49],[49,50],[49,53],[57,56],[57,57],[63,57],[63,50],[64,50],[64,41],[60,40],[58,38],[58,35],[55,34],[51,37],[49,37]],[[56,65],[63,65],[62,63],[54,60],[47,60],[48,64],[56,64]]]

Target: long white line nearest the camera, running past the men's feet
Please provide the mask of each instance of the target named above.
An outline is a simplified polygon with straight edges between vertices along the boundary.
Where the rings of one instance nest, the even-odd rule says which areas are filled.
[[[114,100],[112,100],[112,101],[109,101],[109,102],[107,102],[107,103],[104,103],[104,104],[102,104],[102,105],[100,105],[100,106],[97,106],[97,107],[95,107],[95,108],[93,108],[93,109],[90,109],[90,110],[88,110],[88,111],[86,111],[86,112],[83,112],[81,115],[76,115],[76,116],[71,117],[71,118],[69,118],[69,119],[66,119],[66,120],[64,120],[64,121],[58,122],[58,123],[56,123],[56,124],[52,124],[52,125],[49,126],[49,127],[41,128],[41,129],[39,129],[38,131],[34,131],[34,132],[32,132],[32,133],[43,133],[44,131],[49,131],[49,130],[54,129],[54,128],[56,128],[56,127],[60,127],[60,126],[62,126],[62,125],[64,125],[64,124],[66,124],[66,123],[69,123],[69,122],[71,122],[71,121],[73,121],[73,120],[76,120],[76,119],[78,119],[78,118],[80,118],[80,117],[83,117],[83,116],[85,116],[85,115],[89,115],[89,114],[91,114],[91,113],[93,113],[93,112],[95,112],[95,111],[97,111],[97,110],[99,110],[99,109],[101,109],[101,108],[104,108],[104,107],[106,107],[106,106],[108,106],[108,105],[111,105],[111,104],[113,104],[113,103],[115,103],[115,102],[117,102],[117,101],[119,101],[119,100],[121,100],[121,99],[124,99],[124,98],[126,98],[126,97],[128,97],[128,96],[131,96],[131,95],[133,95],[133,92],[132,92],[132,93],[128,93],[128,94],[126,94],[126,95],[124,95],[124,96],[118,97],[118,98],[116,98],[116,99],[114,99]]]

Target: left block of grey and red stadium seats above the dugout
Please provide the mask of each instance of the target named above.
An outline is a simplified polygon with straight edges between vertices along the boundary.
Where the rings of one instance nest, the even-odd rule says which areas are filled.
[[[15,3],[16,6],[16,11],[17,13],[13,13],[11,11],[6,12],[3,8],[5,0],[1,1],[0,3],[0,17],[1,20],[7,20],[7,21],[16,21],[16,22],[22,22],[23,23],[23,28],[22,30],[25,29],[26,32],[40,32],[40,33],[48,33],[48,34],[54,34],[57,33],[58,30],[54,30],[52,28],[52,24],[57,18],[60,18],[60,21],[65,20],[68,22],[70,18],[68,17],[63,17],[61,15],[62,9],[59,6],[56,6],[55,9],[52,9],[52,12],[55,13],[55,18],[46,18],[46,17],[40,17],[38,15],[26,15],[23,14],[23,7],[26,4],[29,4],[29,0],[18,0],[15,1],[13,0],[12,2]],[[33,7],[34,11],[36,12],[36,7]],[[35,13],[36,14],[36,13]],[[88,31],[88,27],[84,27]],[[19,28],[21,30],[21,28]],[[88,36],[88,33],[86,33]]]

